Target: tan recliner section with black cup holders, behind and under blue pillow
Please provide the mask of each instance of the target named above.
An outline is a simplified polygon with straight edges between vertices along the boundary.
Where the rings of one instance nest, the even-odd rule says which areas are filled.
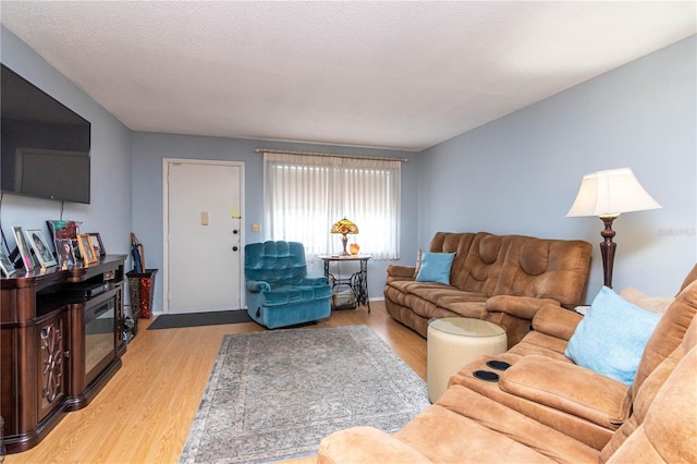
[[[683,282],[681,294],[695,279],[693,273]],[[484,356],[464,366],[450,384],[465,386],[600,450],[632,413],[641,383],[683,339],[697,312],[697,304],[689,304],[687,295],[680,296],[682,303],[672,304],[661,318],[632,388],[579,368],[564,355],[582,316],[552,305],[538,312],[535,330],[521,343],[496,356],[512,365],[500,382],[482,382],[473,376],[488,369],[486,363],[492,357]]]

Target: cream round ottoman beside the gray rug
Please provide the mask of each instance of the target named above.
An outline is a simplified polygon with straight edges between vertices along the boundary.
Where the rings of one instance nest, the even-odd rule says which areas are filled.
[[[448,380],[470,361],[508,349],[505,330],[493,322],[468,317],[432,319],[428,325],[428,399],[431,403],[448,389]]]

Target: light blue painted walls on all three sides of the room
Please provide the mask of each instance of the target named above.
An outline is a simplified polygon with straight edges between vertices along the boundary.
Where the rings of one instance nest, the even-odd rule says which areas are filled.
[[[4,27],[1,59],[93,123],[93,202],[65,204],[64,219],[102,234],[110,253],[129,252],[134,231],[147,265],[162,266],[162,158],[245,163],[245,242],[262,222],[256,147],[375,154],[403,164],[402,259],[414,264],[436,231],[584,239],[595,245],[589,293],[602,283],[601,222],[565,218],[585,173],[628,166],[663,209],[615,221],[615,289],[672,294],[697,260],[696,39],[692,37],[421,154],[308,144],[132,133]],[[44,227],[60,203],[4,195],[0,220]],[[258,235],[258,236],[257,236]],[[369,290],[382,296],[389,261],[372,261]],[[129,265],[130,266],[130,265]],[[321,272],[319,264],[313,271]],[[155,312],[162,308],[156,279]]]

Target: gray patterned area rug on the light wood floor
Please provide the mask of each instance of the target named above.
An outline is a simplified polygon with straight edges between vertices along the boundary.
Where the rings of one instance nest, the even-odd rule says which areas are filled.
[[[276,462],[366,425],[394,432],[426,382],[366,326],[225,335],[181,463]]]

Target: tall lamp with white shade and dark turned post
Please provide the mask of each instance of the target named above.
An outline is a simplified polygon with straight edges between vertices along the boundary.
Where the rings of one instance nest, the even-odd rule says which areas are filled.
[[[602,256],[606,286],[612,288],[612,265],[616,248],[616,244],[612,241],[615,235],[612,230],[612,221],[622,212],[660,207],[661,205],[651,198],[639,184],[629,168],[598,171],[584,175],[578,195],[576,195],[566,217],[597,216],[604,223],[606,228],[600,232],[604,239],[603,242],[600,242],[600,255]]]

